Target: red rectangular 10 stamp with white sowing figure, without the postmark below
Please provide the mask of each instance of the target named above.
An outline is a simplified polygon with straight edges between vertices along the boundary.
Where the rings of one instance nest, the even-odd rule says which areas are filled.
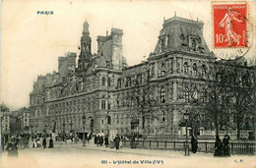
[[[213,4],[214,47],[248,47],[247,4]]]

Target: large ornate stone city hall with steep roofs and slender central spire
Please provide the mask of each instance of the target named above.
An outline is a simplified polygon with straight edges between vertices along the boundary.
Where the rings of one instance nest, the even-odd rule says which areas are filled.
[[[33,84],[33,128],[37,133],[124,135],[131,132],[132,119],[138,118],[140,132],[177,135],[191,101],[206,101],[205,79],[215,68],[217,57],[206,44],[203,25],[179,17],[165,20],[148,61],[128,67],[122,55],[122,29],[97,36],[97,53],[92,54],[85,22],[78,67],[76,54],[67,53],[59,58],[57,73],[39,76]],[[220,66],[226,68],[224,63]],[[141,106],[146,94],[157,101],[152,109],[152,102]],[[144,115],[145,111],[155,117]]]

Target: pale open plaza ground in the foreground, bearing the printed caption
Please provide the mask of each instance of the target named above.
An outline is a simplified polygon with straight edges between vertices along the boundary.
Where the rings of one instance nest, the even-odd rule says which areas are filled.
[[[97,147],[93,142],[82,144],[58,143],[54,148],[27,148],[19,150],[18,158],[7,157],[2,153],[1,167],[255,167],[256,157],[248,155],[231,155],[216,158],[213,153],[198,152],[184,156],[183,151],[149,150],[131,148]]]

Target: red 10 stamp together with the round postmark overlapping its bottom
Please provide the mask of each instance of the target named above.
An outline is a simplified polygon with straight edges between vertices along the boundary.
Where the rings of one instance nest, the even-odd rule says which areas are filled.
[[[250,47],[248,4],[242,1],[212,2],[213,44],[218,57],[235,59]]]

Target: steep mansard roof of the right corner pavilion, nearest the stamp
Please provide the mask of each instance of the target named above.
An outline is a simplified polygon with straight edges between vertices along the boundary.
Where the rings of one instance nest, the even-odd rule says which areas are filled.
[[[203,26],[204,23],[201,21],[180,17],[165,20],[154,52],[158,54],[169,50],[183,50],[210,56],[210,50],[203,36]]]

